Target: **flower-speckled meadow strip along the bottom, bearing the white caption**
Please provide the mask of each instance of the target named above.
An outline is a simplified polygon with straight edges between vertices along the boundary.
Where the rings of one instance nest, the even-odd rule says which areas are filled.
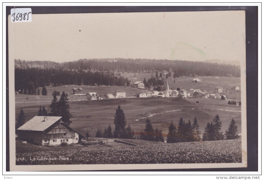
[[[240,139],[16,154],[17,165],[237,162],[242,162]]]

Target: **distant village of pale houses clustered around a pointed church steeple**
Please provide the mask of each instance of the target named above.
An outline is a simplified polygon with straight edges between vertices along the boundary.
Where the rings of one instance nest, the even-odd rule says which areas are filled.
[[[192,82],[199,82],[201,79],[194,78]],[[144,83],[142,81],[136,81],[133,84],[134,88],[145,89]],[[82,94],[82,88],[73,88],[73,95],[84,96]],[[240,88],[235,85],[231,88],[232,92],[238,92]],[[208,92],[206,90],[201,91],[200,89],[170,89],[167,81],[166,91],[140,91],[130,96],[126,94],[123,90],[116,90],[113,93],[109,93],[105,96],[101,96],[96,92],[88,92],[86,94],[86,100],[99,100],[99,99],[114,99],[114,98],[146,98],[146,97],[178,97],[178,98],[212,98],[212,99],[221,99],[229,101],[228,97],[223,93],[223,87],[217,86],[214,88],[214,91]]]

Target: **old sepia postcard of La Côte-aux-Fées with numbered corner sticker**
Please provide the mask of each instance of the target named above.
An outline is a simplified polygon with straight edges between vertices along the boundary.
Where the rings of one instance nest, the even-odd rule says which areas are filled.
[[[245,11],[16,8],[10,170],[247,167],[245,28]]]

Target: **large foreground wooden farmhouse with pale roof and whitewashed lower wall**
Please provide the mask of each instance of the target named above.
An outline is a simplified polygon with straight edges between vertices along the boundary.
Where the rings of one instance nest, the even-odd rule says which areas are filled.
[[[57,116],[35,116],[18,128],[17,133],[18,139],[38,146],[78,143],[84,138]]]

